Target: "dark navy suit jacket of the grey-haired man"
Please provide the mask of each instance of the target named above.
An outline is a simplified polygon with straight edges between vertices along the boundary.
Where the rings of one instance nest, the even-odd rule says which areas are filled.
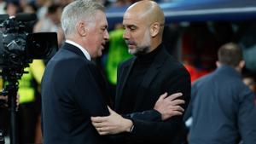
[[[44,144],[106,144],[90,122],[107,116],[105,81],[82,51],[65,43],[49,60],[42,81]]]

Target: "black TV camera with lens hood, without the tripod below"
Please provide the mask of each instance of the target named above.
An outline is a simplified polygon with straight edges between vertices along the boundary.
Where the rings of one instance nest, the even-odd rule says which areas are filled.
[[[15,17],[0,15],[0,22],[3,21],[0,24],[1,75],[9,75],[5,71],[12,70],[19,79],[32,59],[46,59],[57,51],[55,32],[26,32],[26,22],[31,20],[36,20],[35,14],[17,14]]]

